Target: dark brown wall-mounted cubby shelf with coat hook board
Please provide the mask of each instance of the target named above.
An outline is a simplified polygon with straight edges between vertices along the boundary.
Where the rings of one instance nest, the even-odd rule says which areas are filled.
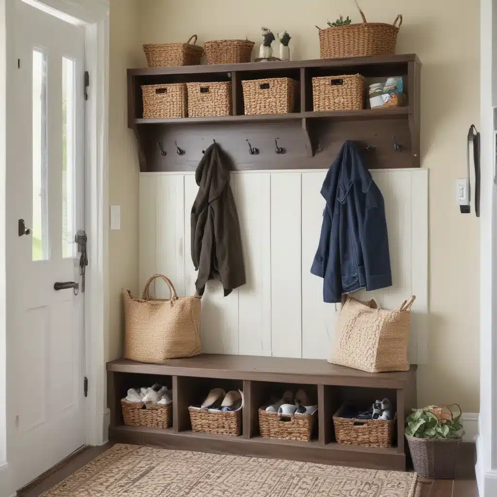
[[[359,73],[367,86],[402,76],[407,105],[399,108],[314,112],[312,78]],[[295,112],[245,115],[242,81],[290,77],[299,83]],[[233,115],[144,119],[144,84],[231,81]],[[135,131],[142,171],[193,170],[200,150],[216,139],[232,156],[235,169],[328,168],[345,140],[367,149],[370,168],[419,167],[420,62],[416,55],[388,55],[349,59],[257,62],[128,69],[128,126]],[[395,138],[394,138],[395,137]],[[274,155],[274,140],[286,154]],[[394,140],[402,151],[394,150]],[[246,140],[260,149],[248,156]],[[175,142],[186,151],[175,154]],[[161,143],[167,155],[161,155]]]

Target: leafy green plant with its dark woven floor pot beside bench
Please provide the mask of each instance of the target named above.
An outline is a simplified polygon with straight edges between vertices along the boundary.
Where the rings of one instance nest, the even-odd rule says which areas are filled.
[[[457,404],[413,409],[406,419],[406,438],[415,472],[424,478],[454,478],[463,435]]]

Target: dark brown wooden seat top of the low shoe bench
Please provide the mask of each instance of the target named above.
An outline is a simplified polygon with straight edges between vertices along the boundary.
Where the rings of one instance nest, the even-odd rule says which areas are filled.
[[[107,363],[108,371],[165,374],[259,381],[309,382],[329,385],[402,388],[414,378],[416,366],[406,372],[367,373],[330,364],[322,359],[200,354],[170,359],[164,364],[146,364],[128,359]]]

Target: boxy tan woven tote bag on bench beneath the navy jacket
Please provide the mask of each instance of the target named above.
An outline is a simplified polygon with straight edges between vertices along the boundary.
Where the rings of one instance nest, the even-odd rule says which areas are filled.
[[[394,310],[377,309],[374,300],[347,296],[337,320],[336,348],[328,362],[369,373],[408,371],[407,347],[413,295]]]

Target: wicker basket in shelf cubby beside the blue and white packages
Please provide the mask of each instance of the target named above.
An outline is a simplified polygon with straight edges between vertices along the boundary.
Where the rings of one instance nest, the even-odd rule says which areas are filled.
[[[360,110],[364,102],[364,78],[359,74],[312,79],[315,111]]]

